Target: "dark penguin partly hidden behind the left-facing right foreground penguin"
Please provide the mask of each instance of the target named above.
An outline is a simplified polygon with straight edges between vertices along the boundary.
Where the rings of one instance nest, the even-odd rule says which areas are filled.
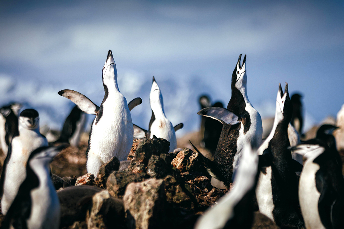
[[[320,128],[316,132],[316,138],[322,140],[330,147],[331,153],[336,158],[337,164],[342,168],[343,162],[337,150],[336,139],[332,135],[333,131],[336,129],[338,129],[337,126],[324,124],[320,126]]]

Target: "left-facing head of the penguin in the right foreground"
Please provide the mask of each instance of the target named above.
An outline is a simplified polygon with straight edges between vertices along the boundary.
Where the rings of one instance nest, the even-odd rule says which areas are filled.
[[[290,151],[293,153],[297,153],[302,155],[303,157],[310,159],[310,158],[316,158],[320,154],[324,153],[326,149],[328,149],[329,146],[327,146],[326,143],[319,139],[311,139],[305,142],[302,142],[301,144],[298,144],[294,147],[290,148]]]

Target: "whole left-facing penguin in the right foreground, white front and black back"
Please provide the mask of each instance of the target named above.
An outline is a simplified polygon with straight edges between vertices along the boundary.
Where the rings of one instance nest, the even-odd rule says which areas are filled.
[[[344,179],[329,146],[312,139],[291,150],[306,158],[299,182],[306,228],[344,228]]]

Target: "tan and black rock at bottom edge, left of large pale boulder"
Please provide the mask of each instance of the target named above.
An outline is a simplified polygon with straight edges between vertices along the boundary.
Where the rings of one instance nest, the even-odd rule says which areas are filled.
[[[124,228],[123,201],[110,196],[103,190],[92,197],[92,208],[87,212],[86,222],[88,229],[106,229],[116,225]]]

